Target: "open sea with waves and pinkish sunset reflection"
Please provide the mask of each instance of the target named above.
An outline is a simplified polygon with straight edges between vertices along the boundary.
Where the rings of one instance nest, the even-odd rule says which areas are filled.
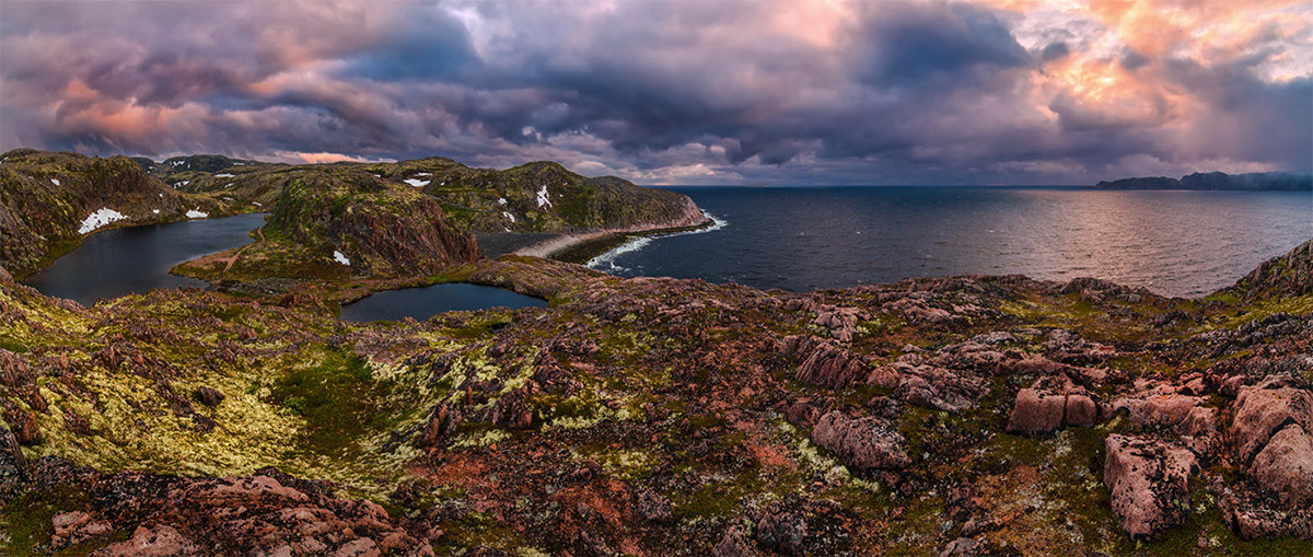
[[[1313,238],[1313,192],[668,189],[725,226],[641,239],[591,267],[793,292],[1022,273],[1203,296]]]

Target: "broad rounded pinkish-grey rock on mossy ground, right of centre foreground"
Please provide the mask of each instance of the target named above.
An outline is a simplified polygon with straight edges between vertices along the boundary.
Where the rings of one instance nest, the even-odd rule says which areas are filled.
[[[848,418],[834,410],[817,422],[811,441],[834,451],[847,465],[857,469],[898,469],[911,462],[907,441],[884,418]]]

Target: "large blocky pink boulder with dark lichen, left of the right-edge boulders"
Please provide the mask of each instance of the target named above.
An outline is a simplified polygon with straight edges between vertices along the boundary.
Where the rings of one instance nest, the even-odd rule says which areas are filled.
[[[1195,455],[1183,447],[1145,437],[1109,435],[1103,483],[1112,511],[1130,537],[1154,537],[1180,524],[1190,510]]]

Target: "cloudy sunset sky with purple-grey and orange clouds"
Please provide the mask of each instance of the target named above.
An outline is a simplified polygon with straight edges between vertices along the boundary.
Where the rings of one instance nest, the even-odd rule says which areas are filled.
[[[0,150],[639,184],[1313,171],[1301,0],[0,0]]]

